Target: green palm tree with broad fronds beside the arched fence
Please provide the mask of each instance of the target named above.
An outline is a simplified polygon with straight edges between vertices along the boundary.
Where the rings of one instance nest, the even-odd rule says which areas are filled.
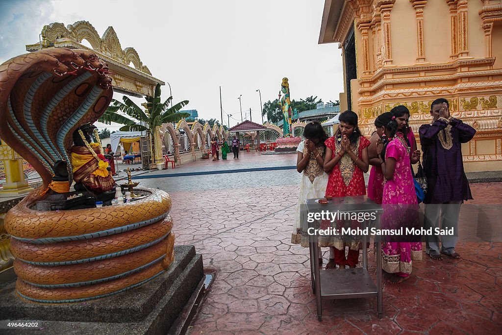
[[[156,144],[156,141],[160,139],[153,135],[158,127],[162,126],[163,123],[178,122],[190,116],[188,113],[179,112],[183,106],[188,104],[188,100],[183,100],[169,107],[173,97],[170,96],[166,101],[161,102],[160,94],[160,84],[157,84],[154,96],[146,96],[145,99],[147,102],[142,104],[146,108],[146,111],[143,111],[140,106],[126,95],[122,97],[123,102],[112,99],[111,105],[106,108],[106,111],[98,121],[108,125],[112,122],[124,125],[120,128],[122,132],[147,132],[148,136],[153,139],[151,145],[154,141],[154,144]],[[119,110],[127,116],[118,114],[117,111]],[[138,121],[146,126],[138,124]],[[152,147],[156,146],[152,145]],[[161,146],[157,147],[160,148]],[[151,153],[151,162],[155,162],[154,151],[151,150]]]

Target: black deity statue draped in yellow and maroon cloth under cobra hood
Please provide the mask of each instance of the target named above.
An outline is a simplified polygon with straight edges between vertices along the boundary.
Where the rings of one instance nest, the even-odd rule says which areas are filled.
[[[93,135],[96,142],[92,141]],[[104,192],[112,189],[115,181],[109,162],[101,153],[97,128],[91,124],[80,126],[73,132],[73,144],[70,155],[75,190]]]

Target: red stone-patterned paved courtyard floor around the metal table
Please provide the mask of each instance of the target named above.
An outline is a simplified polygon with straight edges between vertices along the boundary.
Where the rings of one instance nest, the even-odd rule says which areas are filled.
[[[226,162],[201,160],[173,172],[295,163],[296,155],[244,153],[239,160],[231,156]],[[385,283],[382,320],[375,313],[376,299],[360,298],[325,300],[323,321],[319,322],[310,287],[308,250],[290,242],[299,173],[259,171],[139,181],[140,186],[170,193],[176,243],[195,245],[206,271],[216,271],[191,334],[502,331],[498,224],[502,183],[471,185],[475,200],[469,203],[493,205],[462,206],[460,234],[464,238],[456,249],[461,259],[432,261],[424,254],[423,261],[414,262],[407,281]],[[490,220],[497,225],[489,226]],[[478,236],[486,234],[499,242],[481,241]],[[328,253],[324,256],[326,264]],[[372,253],[369,264],[374,265]],[[374,276],[374,267],[369,270]]]

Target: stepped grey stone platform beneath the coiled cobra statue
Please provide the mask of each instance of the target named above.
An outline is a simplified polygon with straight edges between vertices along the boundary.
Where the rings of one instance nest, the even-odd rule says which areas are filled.
[[[203,283],[202,256],[193,246],[175,246],[169,269],[130,291],[74,304],[38,304],[15,293],[11,281],[0,287],[0,326],[38,322],[43,334],[158,334],[167,333]],[[33,328],[2,329],[2,333],[31,333]]]

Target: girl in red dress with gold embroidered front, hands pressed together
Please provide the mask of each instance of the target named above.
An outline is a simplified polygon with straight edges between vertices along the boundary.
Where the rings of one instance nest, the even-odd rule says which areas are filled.
[[[357,127],[357,114],[346,110],[340,114],[340,125],[336,134],[326,140],[326,156],[324,171],[329,173],[326,187],[327,197],[365,195],[363,173],[368,171],[368,146]],[[351,222],[338,222],[340,224]],[[333,236],[329,243],[320,247],[330,247],[330,260],[326,269],[334,269],[338,265],[341,269],[348,265],[355,268],[358,263],[361,240],[357,237]],[[345,247],[349,247],[345,258]]]

